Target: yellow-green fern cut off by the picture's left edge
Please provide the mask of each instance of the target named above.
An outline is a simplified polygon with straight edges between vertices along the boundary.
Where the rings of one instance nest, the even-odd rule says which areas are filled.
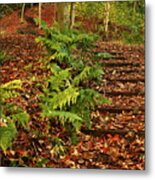
[[[22,87],[21,80],[13,80],[0,86],[0,148],[5,152],[17,134],[16,125],[28,127],[29,115],[22,108],[7,100],[16,97]]]

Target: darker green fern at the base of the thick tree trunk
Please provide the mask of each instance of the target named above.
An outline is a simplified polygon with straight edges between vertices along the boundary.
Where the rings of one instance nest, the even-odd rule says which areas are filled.
[[[42,21],[42,29],[45,35],[36,38],[36,42],[41,43],[48,51],[49,62],[54,61],[60,65],[65,63],[75,68],[84,67],[84,59],[81,56],[78,59],[75,58],[73,52],[74,50],[86,52],[93,45],[97,36],[77,30],[66,29],[62,32],[55,27],[48,28],[44,21]]]

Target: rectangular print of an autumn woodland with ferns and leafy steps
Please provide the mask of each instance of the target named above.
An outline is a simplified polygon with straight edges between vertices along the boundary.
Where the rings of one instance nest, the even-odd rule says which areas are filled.
[[[40,8],[0,5],[1,166],[143,170],[143,2]]]

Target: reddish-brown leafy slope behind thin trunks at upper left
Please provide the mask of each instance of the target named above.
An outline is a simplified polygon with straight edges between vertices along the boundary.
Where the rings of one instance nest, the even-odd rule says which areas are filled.
[[[38,18],[38,6],[25,10],[24,21],[21,22],[21,11],[16,10],[0,19],[0,35],[5,34],[36,34],[42,33],[34,22],[34,18]],[[44,4],[42,6],[42,20],[49,26],[53,24],[55,19],[54,4]]]

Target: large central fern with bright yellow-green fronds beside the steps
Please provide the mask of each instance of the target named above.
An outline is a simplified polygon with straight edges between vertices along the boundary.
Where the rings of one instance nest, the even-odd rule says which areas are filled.
[[[47,79],[44,93],[41,95],[42,115],[57,117],[71,133],[73,140],[82,125],[91,128],[90,114],[95,106],[109,101],[97,91],[80,85],[91,78],[91,67],[86,66],[75,76],[71,73],[71,68],[61,69],[56,64],[53,67],[53,74]]]

